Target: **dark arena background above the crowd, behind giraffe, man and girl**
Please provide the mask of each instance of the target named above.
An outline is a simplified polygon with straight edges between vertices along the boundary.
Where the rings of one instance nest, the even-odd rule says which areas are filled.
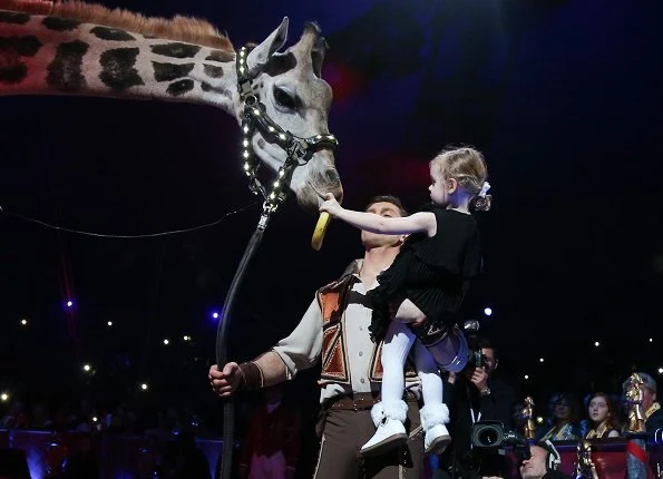
[[[319,21],[331,46],[323,76],[334,88],[330,129],[348,207],[392,193],[413,208],[427,199],[428,160],[443,145],[481,149],[494,209],[480,217],[486,274],[469,316],[500,345],[500,370],[519,398],[618,392],[634,368],[663,366],[660,1],[106,4],[206,18],[236,48],[261,41],[283,16],[291,40],[305,20]],[[7,212],[133,235],[211,223],[255,202],[238,127],[220,110],[6,97],[0,111]],[[213,414],[211,314],[260,211],[255,203],[214,227],[142,240],[0,215],[0,389],[121,398],[146,381],[154,404]],[[314,223],[293,199],[272,218],[236,303],[232,358],[286,335],[314,290],[362,254],[359,232],[341,223],[312,251]],[[298,384],[302,397],[314,398],[314,377]]]

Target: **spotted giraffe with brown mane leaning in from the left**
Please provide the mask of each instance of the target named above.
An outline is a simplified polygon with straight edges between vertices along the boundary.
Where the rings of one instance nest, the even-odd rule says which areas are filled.
[[[300,40],[280,51],[287,27],[285,17],[247,50],[252,92],[295,138],[328,135],[332,91],[321,78],[326,45],[318,26],[306,23]],[[236,58],[227,36],[199,19],[148,18],[78,0],[0,0],[0,96],[185,101],[221,108],[242,123]],[[283,166],[286,153],[260,130],[247,141],[270,169]],[[321,194],[341,199],[333,151],[318,149],[298,164],[287,186],[306,211],[318,211]]]

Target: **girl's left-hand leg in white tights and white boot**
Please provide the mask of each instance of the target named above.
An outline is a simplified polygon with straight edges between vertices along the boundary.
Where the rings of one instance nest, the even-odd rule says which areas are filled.
[[[408,413],[408,404],[402,399],[406,388],[403,368],[415,338],[402,323],[391,321],[387,328],[381,355],[382,401],[371,410],[378,430],[361,448],[364,456],[384,453],[408,439],[403,424]]]

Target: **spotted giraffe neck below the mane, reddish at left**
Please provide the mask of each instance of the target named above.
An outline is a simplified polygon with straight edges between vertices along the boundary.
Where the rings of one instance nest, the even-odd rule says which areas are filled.
[[[0,95],[205,104],[235,116],[234,52],[0,10]]]

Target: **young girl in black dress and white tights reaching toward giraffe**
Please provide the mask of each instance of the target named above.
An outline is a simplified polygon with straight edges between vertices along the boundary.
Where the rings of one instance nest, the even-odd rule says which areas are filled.
[[[382,401],[371,411],[378,430],[362,447],[364,456],[382,453],[407,440],[403,365],[417,336],[422,340],[417,342],[415,360],[425,402],[421,408],[425,450],[441,453],[451,441],[445,426],[449,422],[449,409],[442,402],[439,368],[459,372],[467,362],[467,343],[457,331],[460,345],[458,341],[452,344],[451,354],[447,351],[440,355],[439,351],[440,346],[449,348],[446,345],[449,341],[443,339],[456,323],[469,280],[479,274],[479,232],[470,209],[490,207],[487,174],[478,150],[448,148],[430,162],[428,189],[432,204],[421,212],[407,217],[382,217],[345,209],[333,195],[320,206],[320,211],[360,229],[410,235],[392,265],[378,277],[379,285],[369,291],[373,305],[372,338],[376,342],[383,339],[384,345]],[[390,305],[397,309],[393,321]],[[403,324],[417,315],[420,320],[411,328]],[[431,354],[435,348],[437,362]],[[440,361],[441,356],[448,359]]]

